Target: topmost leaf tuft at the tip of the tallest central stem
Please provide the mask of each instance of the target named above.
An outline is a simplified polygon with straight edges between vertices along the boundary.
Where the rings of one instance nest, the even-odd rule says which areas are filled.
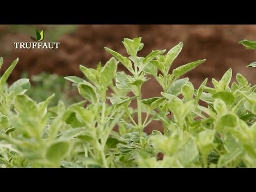
[[[133,58],[136,57],[137,52],[140,51],[143,47],[143,43],[141,43],[141,37],[134,39],[124,38],[122,43],[125,46],[127,53]]]

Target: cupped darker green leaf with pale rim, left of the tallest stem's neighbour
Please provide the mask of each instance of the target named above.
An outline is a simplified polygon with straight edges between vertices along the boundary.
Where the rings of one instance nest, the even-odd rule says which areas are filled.
[[[85,99],[90,101],[91,103],[95,103],[99,101],[98,95],[96,94],[92,85],[89,84],[78,84],[78,92]]]

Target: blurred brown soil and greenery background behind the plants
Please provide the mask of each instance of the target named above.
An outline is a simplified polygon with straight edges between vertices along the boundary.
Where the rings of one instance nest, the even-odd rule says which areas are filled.
[[[14,49],[14,42],[31,42],[30,36],[36,36],[36,29],[44,30],[43,42],[60,42],[59,49]],[[186,74],[196,88],[206,77],[209,85],[211,78],[219,80],[229,68],[233,69],[234,77],[241,73],[249,82],[256,83],[255,70],[246,68],[256,60],[256,51],[245,50],[238,44],[242,39],[256,39],[256,25],[0,25],[0,57],[4,58],[1,73],[19,57],[9,82],[32,78],[35,86],[30,94],[39,102],[54,91],[69,90],[66,81],[58,75],[83,77],[79,65],[93,68],[99,61],[105,63],[110,54],[104,46],[127,55],[121,43],[124,37],[142,37],[145,45],[140,56],[152,50],[170,50],[182,41],[183,50],[172,69],[206,59],[203,65]],[[119,70],[125,69],[119,65]],[[158,83],[150,79],[143,86],[142,97],[155,97],[160,91]],[[60,93],[57,99],[69,102],[70,95],[75,95],[71,99],[76,97],[69,91],[64,96]]]

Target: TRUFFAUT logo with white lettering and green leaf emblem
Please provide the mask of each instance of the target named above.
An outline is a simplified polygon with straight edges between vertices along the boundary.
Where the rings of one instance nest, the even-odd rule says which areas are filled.
[[[15,49],[59,49],[59,42],[41,42],[44,39],[44,31],[36,30],[36,37],[30,39],[35,42],[14,42]]]

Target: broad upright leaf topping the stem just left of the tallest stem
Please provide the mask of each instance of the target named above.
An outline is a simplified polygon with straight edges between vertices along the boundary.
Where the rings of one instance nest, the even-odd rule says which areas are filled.
[[[115,58],[111,58],[103,69],[100,71],[99,83],[103,87],[108,87],[109,83],[113,80],[116,75],[117,61]]]

